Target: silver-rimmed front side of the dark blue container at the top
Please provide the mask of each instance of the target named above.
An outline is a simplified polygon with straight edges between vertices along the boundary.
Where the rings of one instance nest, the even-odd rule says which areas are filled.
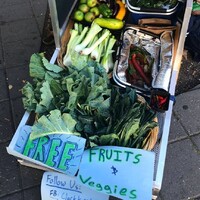
[[[179,9],[180,2],[177,1],[176,5],[172,8],[150,8],[150,7],[136,7],[131,5],[130,0],[126,0],[126,5],[130,11],[129,20],[133,24],[138,24],[139,19],[147,18],[162,18],[169,19],[172,21],[172,24],[175,24],[177,21],[177,11]]]

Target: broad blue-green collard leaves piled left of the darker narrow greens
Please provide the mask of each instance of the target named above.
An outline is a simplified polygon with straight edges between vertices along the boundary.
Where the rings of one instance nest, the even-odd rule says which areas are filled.
[[[22,100],[24,108],[39,117],[54,109],[74,114],[78,107],[94,107],[95,101],[102,103],[110,96],[107,74],[96,62],[90,61],[81,69],[64,69],[50,64],[43,54],[33,54],[29,68],[33,83],[22,88]]]

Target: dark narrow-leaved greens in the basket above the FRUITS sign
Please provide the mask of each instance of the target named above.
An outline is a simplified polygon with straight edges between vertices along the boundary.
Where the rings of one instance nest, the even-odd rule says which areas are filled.
[[[91,136],[90,145],[143,148],[148,133],[158,126],[155,112],[137,100],[135,90],[112,87],[109,124],[104,134]]]

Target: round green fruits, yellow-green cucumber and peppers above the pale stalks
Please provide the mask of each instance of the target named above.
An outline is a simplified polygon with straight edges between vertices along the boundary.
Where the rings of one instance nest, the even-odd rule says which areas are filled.
[[[125,14],[125,4],[121,0],[80,0],[73,19],[83,23],[95,21],[102,27],[116,30],[123,27]]]

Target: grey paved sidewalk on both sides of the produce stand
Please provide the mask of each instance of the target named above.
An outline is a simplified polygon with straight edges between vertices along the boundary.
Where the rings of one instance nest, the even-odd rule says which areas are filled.
[[[43,172],[6,152],[24,114],[20,89],[40,51],[47,0],[0,1],[0,199],[40,200]],[[200,199],[200,86],[177,96],[159,200]]]

